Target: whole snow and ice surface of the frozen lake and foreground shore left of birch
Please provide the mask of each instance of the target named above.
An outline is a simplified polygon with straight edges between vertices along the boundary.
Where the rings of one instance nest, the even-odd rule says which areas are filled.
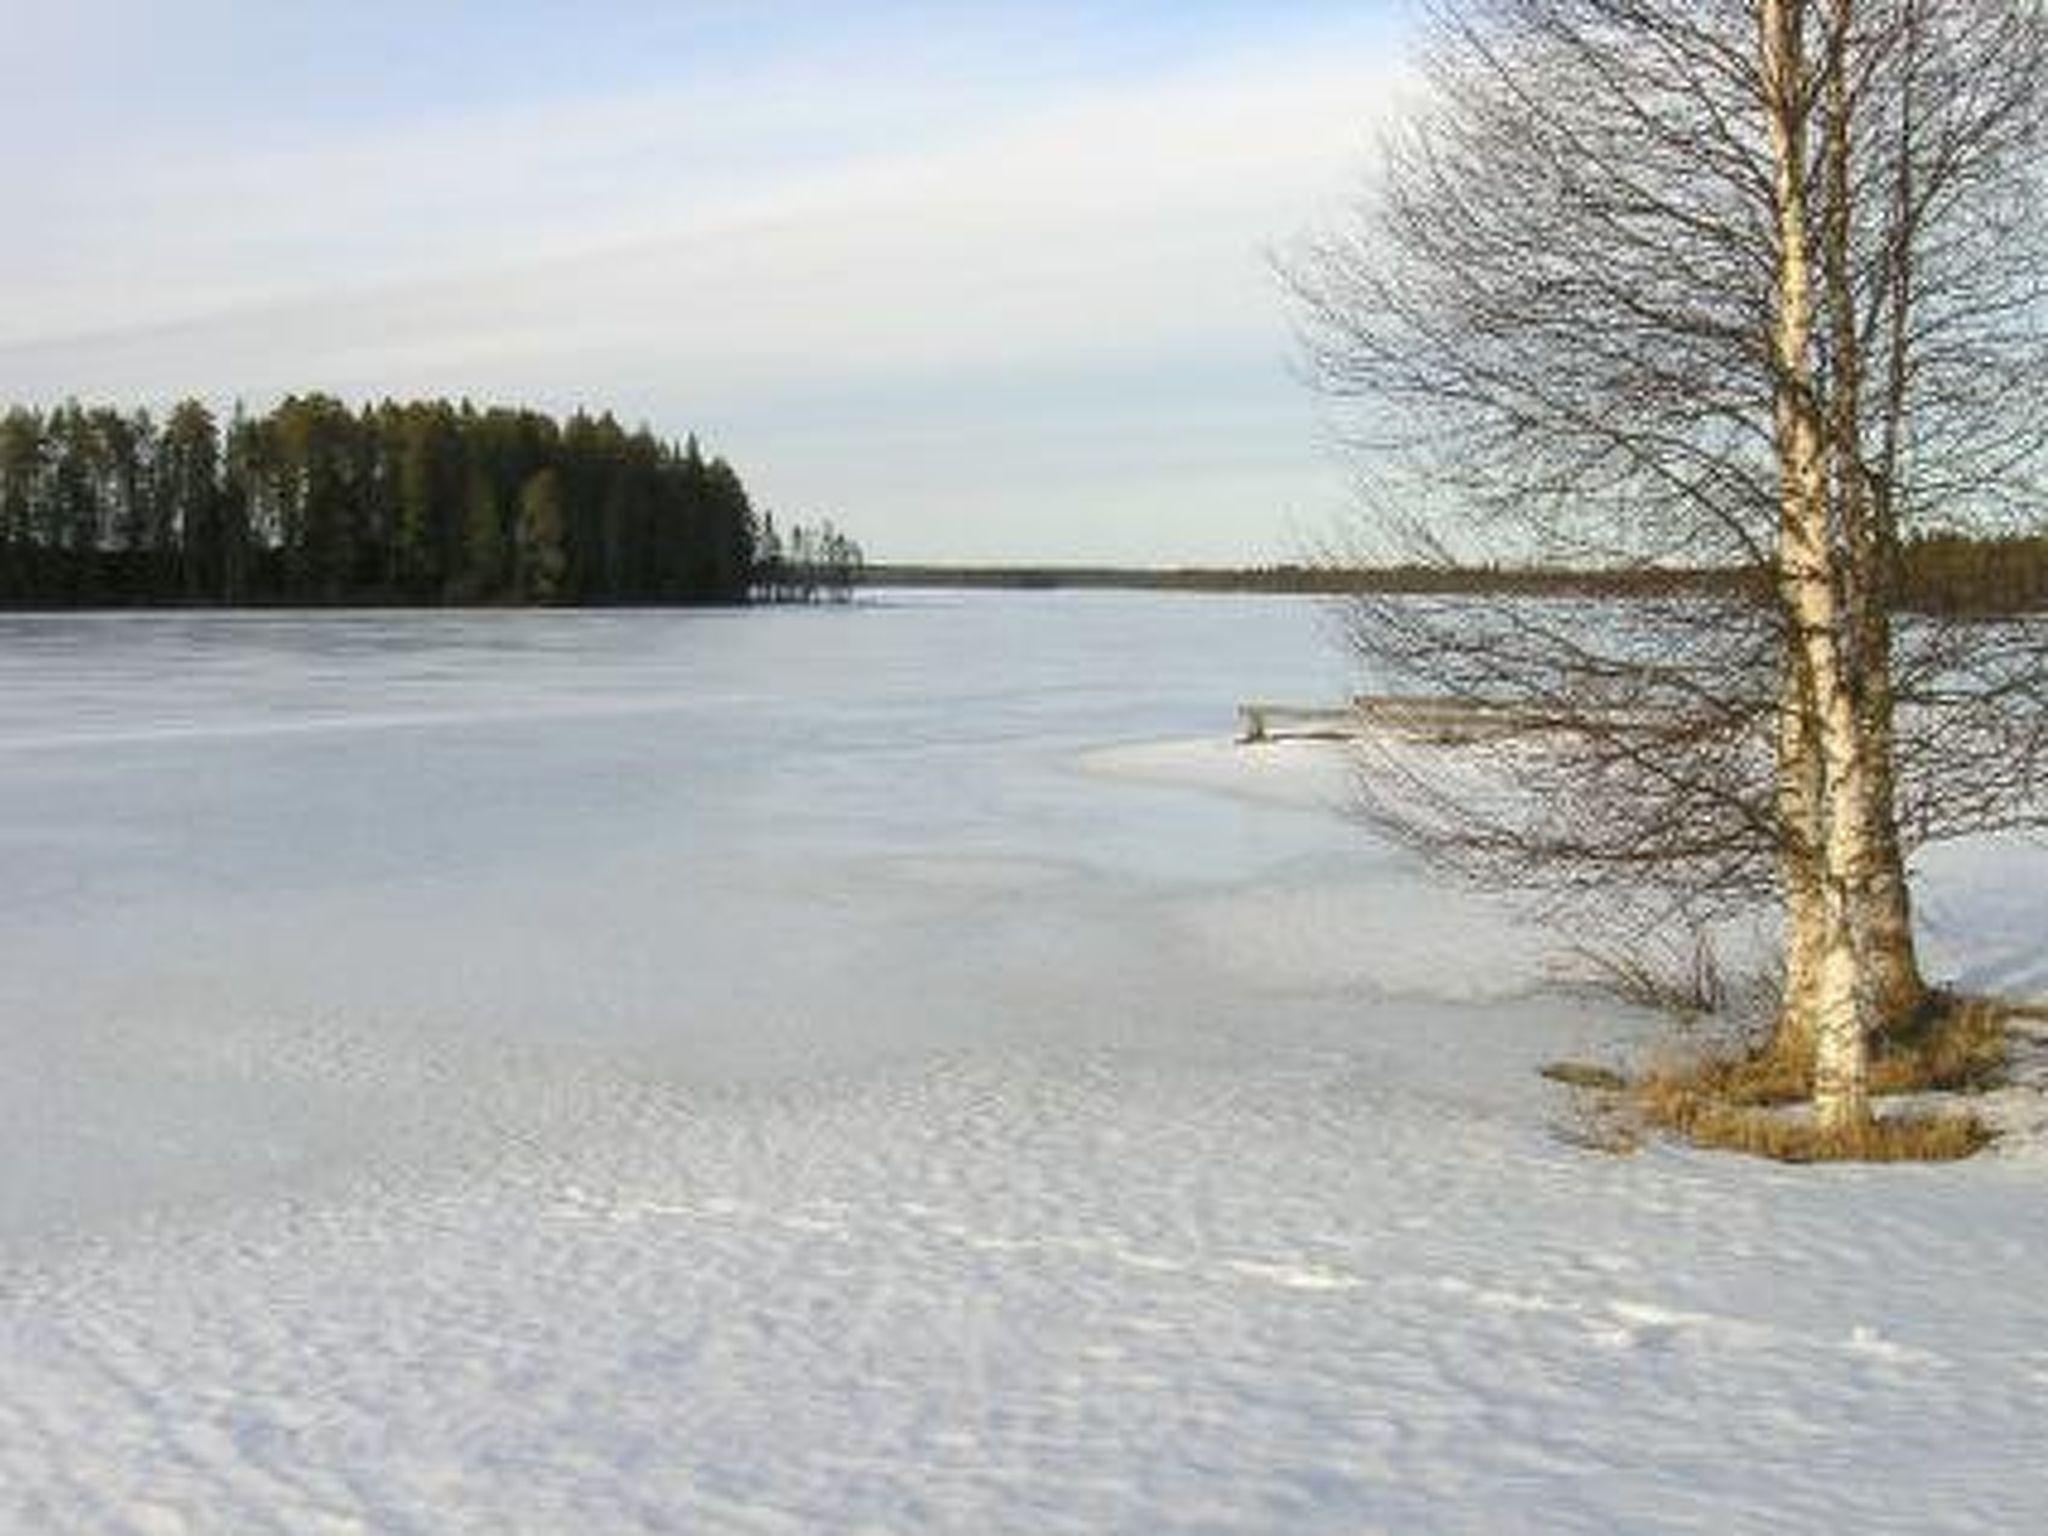
[[[1239,698],[1307,604],[0,618],[0,1530],[2048,1528],[2048,1159],[1655,1028]],[[2040,850],[1929,860],[2032,985]]]

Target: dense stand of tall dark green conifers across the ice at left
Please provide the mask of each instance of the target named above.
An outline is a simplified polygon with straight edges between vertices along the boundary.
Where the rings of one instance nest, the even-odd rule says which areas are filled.
[[[0,418],[16,606],[743,602],[760,532],[723,459],[610,416],[295,395],[225,424],[197,401]]]

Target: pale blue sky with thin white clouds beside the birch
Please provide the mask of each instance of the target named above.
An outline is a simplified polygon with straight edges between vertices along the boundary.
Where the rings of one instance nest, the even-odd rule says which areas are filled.
[[[1272,256],[1399,0],[0,0],[0,395],[612,410],[883,561],[1341,522]]]

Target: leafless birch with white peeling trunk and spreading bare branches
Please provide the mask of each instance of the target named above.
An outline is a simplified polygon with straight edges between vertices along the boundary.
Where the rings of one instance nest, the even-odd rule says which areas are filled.
[[[2023,0],[1444,0],[1423,106],[1290,266],[1368,510],[1634,602],[1360,596],[1495,711],[1382,827],[1612,922],[1786,913],[1823,1118],[1919,1006],[1913,848],[2038,819],[2040,627],[1901,614],[1915,530],[2042,508],[2048,20]]]

